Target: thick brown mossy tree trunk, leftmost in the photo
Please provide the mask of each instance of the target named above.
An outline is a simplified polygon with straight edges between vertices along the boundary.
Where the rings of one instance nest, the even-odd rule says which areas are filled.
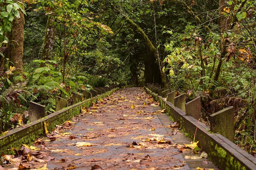
[[[20,1],[23,3],[23,0]],[[14,17],[12,21],[12,31],[9,37],[9,44],[8,44],[8,51],[7,57],[15,66],[15,72],[22,73],[23,71],[23,64],[22,64],[22,57],[23,57],[23,41],[24,41],[24,14],[21,10],[20,18]]]

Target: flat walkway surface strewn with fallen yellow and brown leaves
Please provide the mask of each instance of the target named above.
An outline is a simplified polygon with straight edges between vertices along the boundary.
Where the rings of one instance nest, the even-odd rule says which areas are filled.
[[[30,162],[23,162],[22,166],[191,169],[181,154],[186,149],[175,144],[170,136],[172,132],[178,133],[177,128],[167,132],[158,118],[161,115],[165,114],[143,89],[121,89],[93,107],[84,108],[81,115],[58,126],[47,137],[38,139],[35,146],[41,150],[29,154]]]

